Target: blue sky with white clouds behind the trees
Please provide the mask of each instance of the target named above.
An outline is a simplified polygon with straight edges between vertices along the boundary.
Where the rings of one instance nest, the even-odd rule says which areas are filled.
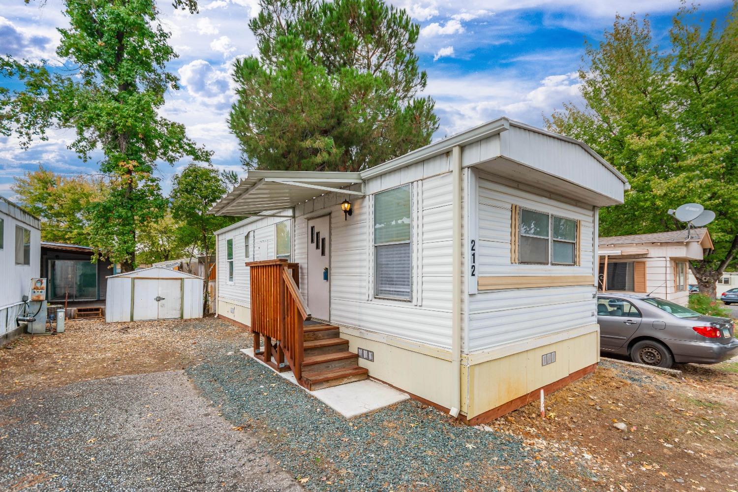
[[[655,39],[665,46],[671,17],[680,6],[678,0],[391,3],[407,9],[421,24],[416,52],[428,72],[425,94],[435,98],[441,118],[435,138],[503,115],[541,126],[543,115],[562,103],[579,102],[576,71],[582,66],[584,41],[598,42],[612,26],[615,13],[649,14]],[[167,94],[162,114],[184,123],[190,137],[213,150],[213,164],[242,172],[238,143],[225,121],[233,100],[229,70],[234,58],[255,53],[247,23],[258,12],[258,1],[202,0],[197,15],[175,12],[166,1],[161,5],[162,22],[172,32],[171,42],[180,55],[168,68],[179,75],[182,86]],[[704,18],[723,21],[731,2],[706,0],[701,5]],[[62,7],[60,0],[4,1],[0,52],[55,59],[59,39],[55,28],[67,24]],[[1,195],[13,198],[13,178],[39,164],[58,173],[95,172],[96,159],[82,162],[66,149],[74,138],[71,132],[54,131],[50,137],[24,151],[13,137],[0,136]],[[165,191],[184,164],[159,166]]]

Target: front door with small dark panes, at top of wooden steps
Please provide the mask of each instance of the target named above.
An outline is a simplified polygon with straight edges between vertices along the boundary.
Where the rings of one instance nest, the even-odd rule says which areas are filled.
[[[308,308],[328,321],[331,307],[331,216],[308,221]]]

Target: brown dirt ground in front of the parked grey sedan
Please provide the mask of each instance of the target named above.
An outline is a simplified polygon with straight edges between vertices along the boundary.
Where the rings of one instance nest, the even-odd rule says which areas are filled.
[[[584,490],[734,492],[738,362],[675,369],[682,378],[603,358],[548,396],[545,419],[535,401],[489,427],[585,471]]]

